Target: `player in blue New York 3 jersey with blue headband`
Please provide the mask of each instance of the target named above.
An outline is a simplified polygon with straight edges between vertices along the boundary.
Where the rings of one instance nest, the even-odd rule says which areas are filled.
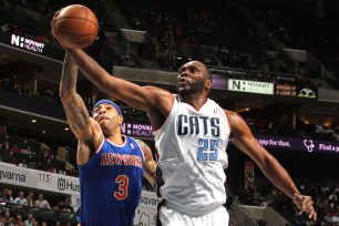
[[[122,135],[123,116],[110,100],[89,115],[76,93],[78,68],[66,54],[60,96],[76,138],[80,170],[81,226],[131,226],[140,203],[143,175],[155,185],[156,163],[142,141]]]

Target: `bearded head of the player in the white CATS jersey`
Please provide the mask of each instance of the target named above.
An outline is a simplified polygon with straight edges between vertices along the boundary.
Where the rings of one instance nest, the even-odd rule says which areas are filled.
[[[181,66],[177,76],[177,92],[181,95],[201,93],[205,89],[206,68],[203,63],[191,61]]]

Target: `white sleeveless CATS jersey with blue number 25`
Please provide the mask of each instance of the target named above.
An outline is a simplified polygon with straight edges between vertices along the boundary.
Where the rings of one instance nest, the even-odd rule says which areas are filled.
[[[160,192],[168,207],[201,216],[226,202],[229,124],[218,104],[208,99],[196,111],[174,95],[171,113],[154,137],[165,182]]]

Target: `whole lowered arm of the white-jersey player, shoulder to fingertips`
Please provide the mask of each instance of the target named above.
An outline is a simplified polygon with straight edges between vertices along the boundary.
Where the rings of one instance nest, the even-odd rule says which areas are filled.
[[[314,209],[311,197],[299,193],[287,171],[257,142],[247,123],[239,114],[230,111],[225,111],[225,113],[229,122],[233,143],[251,157],[267,178],[292,198],[301,212],[309,213],[309,218],[316,220],[317,213]]]

